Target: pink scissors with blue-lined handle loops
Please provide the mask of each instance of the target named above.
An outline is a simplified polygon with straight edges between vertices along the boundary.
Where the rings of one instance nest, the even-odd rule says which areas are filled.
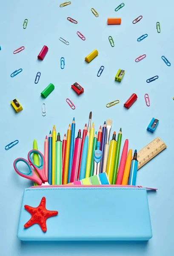
[[[33,153],[37,153],[40,155],[40,158],[42,160],[40,166],[36,166],[33,163],[33,161],[31,160],[31,154],[33,154]],[[16,160],[14,160],[14,163],[13,163],[14,170],[20,176],[27,178],[29,180],[33,180],[36,183],[38,183],[39,185],[42,185],[43,182],[47,181],[47,177],[46,177],[46,173],[45,173],[45,158],[44,158],[43,154],[38,150],[32,149],[29,151],[28,160],[29,160],[29,162],[25,158],[17,158]],[[20,172],[20,170],[16,166],[18,162],[26,163],[26,165],[29,167],[29,172],[28,173]],[[38,173],[38,175],[40,177],[37,176],[37,174],[34,172],[34,169],[36,170],[36,172]]]

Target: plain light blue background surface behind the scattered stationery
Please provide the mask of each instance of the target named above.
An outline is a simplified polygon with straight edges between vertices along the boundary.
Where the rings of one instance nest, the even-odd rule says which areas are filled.
[[[173,73],[174,37],[172,0],[145,2],[124,0],[125,6],[118,12],[114,9],[119,1],[72,0],[71,5],[60,8],[57,0],[1,1],[0,8],[0,87],[1,87],[1,143],[0,143],[0,248],[3,256],[28,255],[167,255],[174,250],[174,172],[173,172]],[[96,9],[95,17],[91,8]],[[143,15],[137,24],[132,21]],[[67,20],[72,17],[78,21],[73,24]],[[108,17],[121,17],[121,25],[107,25]],[[26,29],[23,21],[28,19]],[[156,22],[160,22],[161,33],[157,33]],[[76,34],[80,31],[86,37],[82,41]],[[148,37],[140,43],[137,38],[147,33]],[[111,47],[108,36],[114,39]],[[67,46],[59,37],[70,42]],[[43,45],[49,50],[43,61],[37,55]],[[21,46],[25,49],[13,54]],[[86,55],[97,49],[98,56],[89,64]],[[146,58],[136,63],[140,55]],[[161,56],[171,62],[168,67]],[[65,68],[60,69],[60,58],[65,58]],[[100,66],[105,67],[97,77]],[[15,76],[10,74],[22,68]],[[114,81],[117,70],[126,70],[121,83]],[[37,72],[40,81],[34,84]],[[159,79],[146,83],[152,76]],[[78,82],[84,87],[81,96],[71,89]],[[46,98],[41,91],[49,83],[55,85],[54,91]],[[128,110],[124,102],[137,93],[138,99]],[[144,94],[148,93],[151,105],[145,104]],[[15,113],[10,101],[17,98],[23,111]],[[72,100],[75,110],[66,103]],[[108,102],[120,103],[106,108]],[[41,114],[41,106],[46,103],[46,116]],[[17,157],[27,157],[36,139],[43,152],[45,136],[53,125],[63,138],[68,123],[73,117],[76,128],[83,129],[92,111],[95,130],[104,120],[113,119],[112,130],[123,131],[123,142],[129,139],[129,148],[140,150],[159,136],[167,149],[146,164],[137,175],[137,184],[157,187],[157,192],[148,193],[153,238],[148,242],[21,242],[17,239],[17,225],[23,189],[31,186],[29,180],[14,172],[13,161]],[[152,117],[160,120],[154,134],[146,131]],[[77,134],[77,130],[76,130]],[[11,141],[19,143],[9,151],[4,149]],[[114,199],[117,202],[117,199]],[[99,213],[100,214],[100,213]],[[90,218],[90,216],[89,216]],[[96,217],[97,218],[97,217]],[[103,221],[108,216],[103,216]],[[68,227],[65,227],[68,228]]]

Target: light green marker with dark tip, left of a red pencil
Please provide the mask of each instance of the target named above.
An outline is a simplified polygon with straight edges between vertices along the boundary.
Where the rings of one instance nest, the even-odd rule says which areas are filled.
[[[62,184],[62,141],[60,133],[57,134],[56,140],[56,160],[55,160],[55,185]]]

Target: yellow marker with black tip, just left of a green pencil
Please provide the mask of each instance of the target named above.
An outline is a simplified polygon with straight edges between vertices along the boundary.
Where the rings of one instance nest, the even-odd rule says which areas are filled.
[[[117,146],[116,132],[114,131],[114,134],[112,136],[112,140],[110,142],[109,154],[108,154],[108,163],[107,163],[107,168],[106,168],[106,173],[108,175],[108,180],[109,180],[110,184],[112,183],[116,146]]]

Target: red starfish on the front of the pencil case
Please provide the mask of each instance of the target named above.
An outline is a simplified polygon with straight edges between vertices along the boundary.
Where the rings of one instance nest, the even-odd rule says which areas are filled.
[[[40,201],[38,207],[31,207],[29,205],[24,205],[25,209],[31,213],[31,219],[27,221],[24,227],[30,227],[34,224],[39,224],[43,232],[46,232],[46,220],[49,217],[55,216],[58,214],[57,211],[49,211],[46,209],[46,198],[43,197]]]

